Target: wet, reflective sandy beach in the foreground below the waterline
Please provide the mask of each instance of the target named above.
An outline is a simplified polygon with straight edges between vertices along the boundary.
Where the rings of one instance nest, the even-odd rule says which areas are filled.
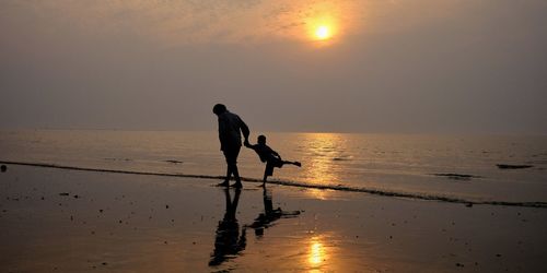
[[[9,165],[0,271],[547,272],[546,209],[214,182]]]

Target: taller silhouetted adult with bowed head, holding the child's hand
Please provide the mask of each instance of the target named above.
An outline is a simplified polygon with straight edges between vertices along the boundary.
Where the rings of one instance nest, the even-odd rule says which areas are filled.
[[[226,107],[222,104],[217,104],[212,108],[219,117],[219,140],[220,150],[224,153],[226,158],[226,178],[219,186],[230,186],[230,178],[232,175],[235,179],[234,187],[241,188],[240,173],[237,171],[237,155],[240,155],[242,133],[245,138],[245,143],[248,143],[248,127],[243,122],[243,120],[235,114],[230,112]]]

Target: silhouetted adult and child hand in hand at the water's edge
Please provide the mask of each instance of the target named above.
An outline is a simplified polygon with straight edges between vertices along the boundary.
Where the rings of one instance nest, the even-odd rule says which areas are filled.
[[[252,145],[248,142],[248,135],[251,131],[247,124],[235,114],[230,112],[226,107],[222,104],[217,104],[212,108],[212,111],[217,115],[219,119],[219,140],[220,150],[224,154],[226,159],[226,177],[223,182],[219,186],[230,186],[230,179],[233,175],[235,179],[235,188],[242,188],[240,171],[237,170],[237,156],[240,155],[240,150],[242,146],[242,134],[244,144],[246,147],[254,150],[260,161],[266,163],[266,169],[264,171],[263,186],[266,185],[268,176],[274,175],[274,168],[281,168],[284,164],[292,164],[295,166],[301,166],[299,162],[288,162],[281,159],[281,156],[268,145],[266,145],[266,136],[259,135],[257,144]]]

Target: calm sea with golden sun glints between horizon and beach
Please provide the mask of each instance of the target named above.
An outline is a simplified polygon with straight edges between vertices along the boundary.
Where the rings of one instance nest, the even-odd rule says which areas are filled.
[[[469,201],[547,202],[547,136],[265,133],[283,159],[302,167],[272,180]],[[252,142],[256,142],[252,134]],[[222,176],[216,132],[0,131],[0,161],[97,169]],[[498,164],[532,165],[500,169]],[[261,178],[264,164],[242,149],[240,174]],[[456,174],[473,177],[439,175]],[[205,181],[211,183],[211,181]],[[364,193],[363,193],[364,194]],[[328,198],[329,190],[317,194]]]

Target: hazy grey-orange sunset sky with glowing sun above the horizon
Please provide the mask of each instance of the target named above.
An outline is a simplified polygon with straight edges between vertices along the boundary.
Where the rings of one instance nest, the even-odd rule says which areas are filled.
[[[547,133],[544,0],[3,0],[0,129]]]

